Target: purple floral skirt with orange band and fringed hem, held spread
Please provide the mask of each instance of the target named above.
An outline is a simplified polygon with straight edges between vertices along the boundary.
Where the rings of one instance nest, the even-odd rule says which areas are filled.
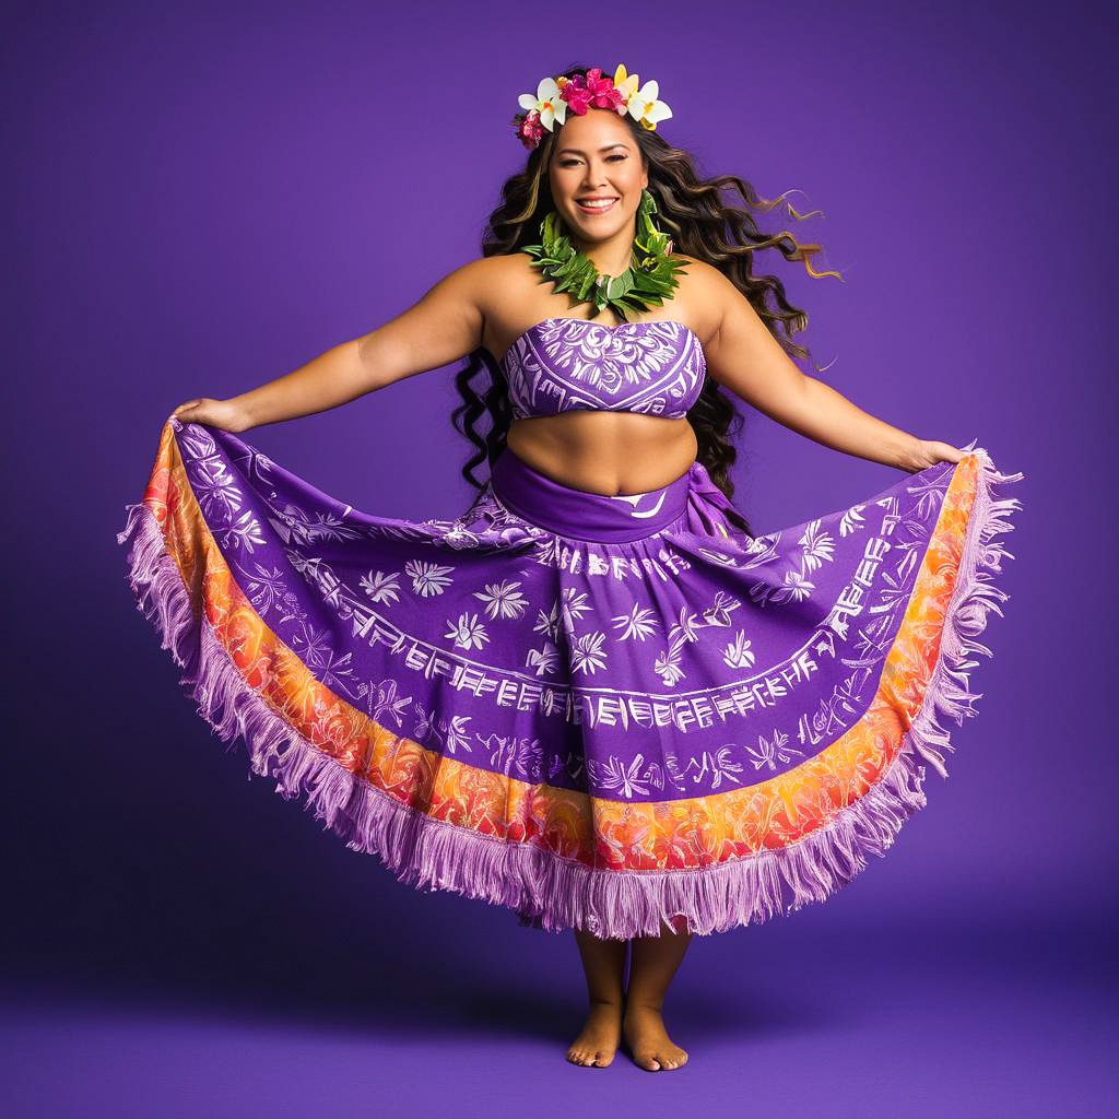
[[[947,775],[1022,477],[969,449],[750,536],[698,462],[608,497],[506,449],[408,520],[172,416],[117,540],[199,713],[351,849],[536,928],[709,933],[828,897]]]

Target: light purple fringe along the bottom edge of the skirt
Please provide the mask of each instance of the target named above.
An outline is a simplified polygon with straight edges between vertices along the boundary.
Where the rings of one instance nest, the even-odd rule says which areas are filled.
[[[399,803],[308,742],[245,681],[208,619],[195,613],[151,509],[128,506],[116,540],[134,536],[128,562],[138,609],[153,620],[161,648],[184,670],[180,684],[198,703],[198,714],[220,739],[243,736],[252,772],[275,778],[275,791],[285,800],[305,793],[304,809],[350,850],[378,855],[401,882],[507,906],[521,924],[537,929],[577,928],[629,939],[658,935],[667,924],[705,935],[825,901],[865,868],[868,855],[885,854],[910,816],[925,806],[921,760],[948,775],[943,752],[953,747],[938,720],[948,716],[962,725],[976,714],[982,693],[968,688],[968,671],[978,664],[969,658],[991,652],[975,638],[986,628],[987,612],[1002,617],[998,603],[1009,598],[990,572],[1002,572],[1002,560],[1013,554],[993,538],[1013,529],[1008,517],[1022,508],[1016,498],[995,500],[991,488],[1023,474],[1000,474],[986,451],[970,453],[978,455],[979,469],[957,582],[923,703],[897,758],[874,788],[798,843],[704,869],[594,871]]]

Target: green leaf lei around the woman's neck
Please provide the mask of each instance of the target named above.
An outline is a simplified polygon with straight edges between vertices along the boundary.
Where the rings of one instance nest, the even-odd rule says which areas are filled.
[[[555,284],[556,292],[572,292],[577,303],[591,299],[595,313],[609,307],[619,318],[629,320],[633,311],[661,307],[676,291],[676,273],[687,267],[685,261],[669,256],[673,243],[653,225],[656,213],[656,199],[642,190],[630,264],[619,276],[599,272],[591,258],[575,248],[555,210],[540,223],[540,244],[524,245],[523,252],[533,257],[532,266]]]

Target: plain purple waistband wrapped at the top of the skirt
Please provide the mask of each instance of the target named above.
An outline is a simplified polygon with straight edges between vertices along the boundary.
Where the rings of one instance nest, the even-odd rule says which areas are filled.
[[[591,493],[542,474],[506,446],[490,469],[493,496],[510,513],[580,540],[639,540],[684,516],[696,463],[679,478],[643,493]]]

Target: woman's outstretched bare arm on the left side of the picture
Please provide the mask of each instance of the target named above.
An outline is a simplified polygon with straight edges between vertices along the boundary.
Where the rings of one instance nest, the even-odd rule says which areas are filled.
[[[481,345],[496,257],[455,269],[382,327],[341,342],[293,373],[226,401],[196,397],[172,415],[226,431],[326,412],[394,380],[449,365]]]

